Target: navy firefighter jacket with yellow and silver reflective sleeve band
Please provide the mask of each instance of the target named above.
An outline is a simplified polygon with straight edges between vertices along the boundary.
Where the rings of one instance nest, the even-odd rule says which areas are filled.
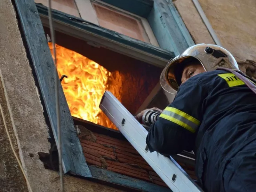
[[[195,171],[206,191],[222,191],[227,162],[255,140],[255,94],[232,73],[218,70],[179,87],[151,125],[146,143],[150,152],[165,155],[194,150]]]

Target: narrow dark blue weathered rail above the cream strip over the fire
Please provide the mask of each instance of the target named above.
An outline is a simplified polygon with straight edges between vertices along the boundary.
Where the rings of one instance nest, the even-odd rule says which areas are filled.
[[[37,4],[37,9],[40,14],[48,16],[47,7]],[[126,46],[133,47],[138,51],[144,51],[149,54],[161,57],[163,59],[169,60],[175,56],[173,52],[170,52],[168,50],[164,50],[159,47],[150,45],[149,43],[145,43],[143,41],[130,38],[118,32],[105,29],[104,27],[87,22],[81,18],[62,13],[61,11],[53,10],[53,18],[54,20],[62,22],[65,25],[70,25],[76,27],[77,29],[85,30],[89,33],[96,34],[112,41],[122,43]]]

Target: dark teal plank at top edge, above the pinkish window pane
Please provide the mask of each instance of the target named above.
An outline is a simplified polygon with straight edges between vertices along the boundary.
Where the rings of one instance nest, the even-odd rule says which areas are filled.
[[[152,7],[153,0],[101,0],[130,13],[147,18]]]

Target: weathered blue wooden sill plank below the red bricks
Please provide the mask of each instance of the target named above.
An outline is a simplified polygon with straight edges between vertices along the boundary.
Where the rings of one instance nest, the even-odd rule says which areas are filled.
[[[114,173],[106,169],[90,166],[91,175],[95,179],[99,179],[105,182],[113,183],[116,185],[126,186],[131,189],[136,189],[144,192],[171,192],[169,188],[155,185],[153,183],[141,181],[139,179],[131,178],[125,175]]]

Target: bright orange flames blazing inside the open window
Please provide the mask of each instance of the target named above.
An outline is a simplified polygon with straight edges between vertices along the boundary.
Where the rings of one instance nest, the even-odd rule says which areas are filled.
[[[53,54],[52,43],[49,47]],[[56,45],[56,58],[59,78],[63,74],[68,76],[62,80],[62,87],[71,115],[117,129],[99,109],[111,73],[87,57],[59,45]]]

